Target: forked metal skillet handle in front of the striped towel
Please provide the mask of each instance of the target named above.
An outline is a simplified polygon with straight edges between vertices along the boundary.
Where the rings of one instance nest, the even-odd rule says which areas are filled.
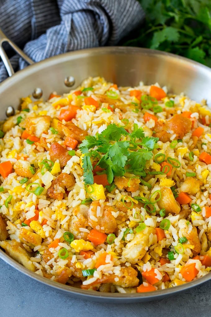
[[[26,62],[28,62],[29,65],[34,64],[34,61],[32,61],[31,58],[29,58],[25,53],[23,53],[23,51],[19,49],[15,43],[10,41],[9,38],[0,29],[0,57],[4,63],[4,66],[7,69],[9,76],[12,76],[13,74],[15,74],[15,72],[5,50],[3,49],[2,44],[4,42],[7,42],[16,51],[18,55],[20,55]]]

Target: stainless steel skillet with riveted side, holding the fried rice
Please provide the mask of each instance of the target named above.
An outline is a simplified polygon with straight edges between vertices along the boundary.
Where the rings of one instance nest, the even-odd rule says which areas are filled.
[[[0,36],[3,35],[0,34]],[[0,44],[3,40],[6,40],[6,38],[0,38]],[[17,48],[15,47],[15,49]],[[3,52],[3,50],[0,51]],[[172,93],[179,94],[183,91],[196,101],[200,101],[202,98],[207,99],[208,105],[211,107],[210,68],[183,57],[160,51],[131,47],[103,47],[85,49],[49,58],[30,65],[3,81],[0,84],[2,109],[0,120],[5,119],[5,112],[8,113],[8,107],[17,108],[20,98],[32,94],[36,88],[43,91],[43,98],[45,99],[52,91],[57,91],[57,93],[68,92],[70,87],[77,87],[82,80],[89,76],[102,76],[120,86],[135,86],[139,81],[144,81],[146,84],[159,82],[161,86],[166,85]],[[69,84],[69,87],[65,86],[64,82]],[[11,110],[11,108],[9,109]],[[172,296],[211,278],[211,275],[208,274],[187,284],[152,293],[98,293],[47,280],[28,271],[2,250],[0,250],[0,257],[22,273],[44,283],[46,286],[91,301],[113,303],[152,301]]]

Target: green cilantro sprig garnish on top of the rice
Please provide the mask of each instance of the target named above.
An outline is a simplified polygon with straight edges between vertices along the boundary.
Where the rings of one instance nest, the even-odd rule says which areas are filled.
[[[96,165],[106,170],[109,184],[115,176],[123,176],[126,170],[142,176],[157,141],[158,138],[145,136],[137,124],[133,125],[132,133],[113,123],[102,133],[87,136],[79,146],[83,154],[85,183],[94,183],[92,162],[96,159]]]

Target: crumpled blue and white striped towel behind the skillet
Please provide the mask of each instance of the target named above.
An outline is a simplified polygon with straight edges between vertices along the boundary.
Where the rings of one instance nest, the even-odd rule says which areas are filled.
[[[137,0],[0,0],[0,27],[35,62],[116,45],[143,18]],[[15,71],[27,66],[18,55],[10,61]],[[0,81],[7,77],[0,62]]]

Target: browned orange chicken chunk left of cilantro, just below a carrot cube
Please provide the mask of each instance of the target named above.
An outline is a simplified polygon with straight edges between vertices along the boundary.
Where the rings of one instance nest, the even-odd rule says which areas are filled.
[[[49,154],[51,157],[51,160],[55,163],[55,161],[58,159],[60,167],[64,167],[71,156],[68,154],[68,150],[66,150],[62,145],[55,142],[51,144]]]

